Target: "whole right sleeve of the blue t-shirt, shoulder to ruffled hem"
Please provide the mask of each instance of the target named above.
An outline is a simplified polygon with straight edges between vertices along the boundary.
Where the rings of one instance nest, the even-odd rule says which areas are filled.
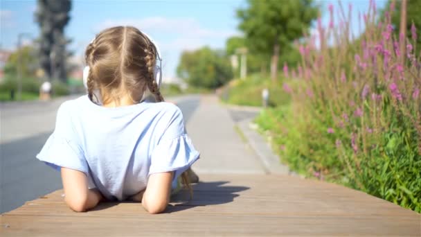
[[[195,163],[199,159],[200,154],[193,146],[188,134],[186,134],[183,114],[178,107],[170,116],[168,127],[152,151],[149,175],[174,171],[172,182],[174,187],[177,177]]]

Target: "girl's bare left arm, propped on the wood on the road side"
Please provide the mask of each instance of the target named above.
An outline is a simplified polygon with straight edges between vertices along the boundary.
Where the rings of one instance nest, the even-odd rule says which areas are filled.
[[[100,191],[88,188],[87,175],[79,170],[62,167],[64,201],[73,211],[87,211],[103,199]]]

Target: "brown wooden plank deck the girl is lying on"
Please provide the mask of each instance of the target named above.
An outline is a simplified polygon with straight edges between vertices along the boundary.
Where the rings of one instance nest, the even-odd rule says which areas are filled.
[[[421,236],[421,215],[335,184],[276,175],[202,175],[166,213],[134,202],[71,211],[62,190],[1,215],[0,236]]]

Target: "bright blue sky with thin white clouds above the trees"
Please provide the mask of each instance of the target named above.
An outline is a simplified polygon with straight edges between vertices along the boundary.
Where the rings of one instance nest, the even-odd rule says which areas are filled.
[[[283,1],[283,0],[279,0]],[[357,26],[358,12],[366,12],[368,0],[341,1],[348,11],[352,3],[352,24]],[[316,0],[322,6],[322,22],[329,22],[328,5],[339,9],[337,1]],[[386,0],[375,1],[378,8]],[[174,78],[181,53],[210,46],[223,49],[226,39],[242,35],[235,16],[246,0],[73,0],[71,19],[65,28],[72,42],[68,49],[82,61],[87,44],[96,33],[110,26],[132,25],[150,35],[159,45],[163,58],[163,76]],[[38,37],[35,0],[0,0],[0,48],[16,49],[17,35],[28,33],[26,42]],[[314,24],[315,25],[315,24]],[[312,26],[315,28],[315,26]],[[357,28],[354,28],[357,34]]]

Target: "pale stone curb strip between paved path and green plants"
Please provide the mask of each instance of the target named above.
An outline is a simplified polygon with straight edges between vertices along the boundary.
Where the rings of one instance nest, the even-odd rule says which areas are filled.
[[[267,141],[260,135],[256,130],[251,127],[252,119],[246,119],[237,123],[238,128],[246,137],[247,142],[251,148],[256,152],[263,166],[269,171],[269,174],[274,175],[293,175],[298,176],[296,173],[289,170],[289,168],[283,164],[280,164],[279,157],[274,154]]]

